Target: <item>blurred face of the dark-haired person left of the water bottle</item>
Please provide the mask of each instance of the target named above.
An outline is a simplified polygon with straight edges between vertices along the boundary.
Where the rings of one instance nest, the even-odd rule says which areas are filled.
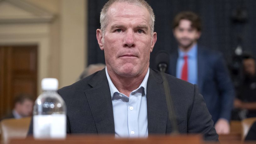
[[[34,102],[29,99],[24,100],[22,103],[17,103],[15,110],[22,116],[31,116],[33,111]]]

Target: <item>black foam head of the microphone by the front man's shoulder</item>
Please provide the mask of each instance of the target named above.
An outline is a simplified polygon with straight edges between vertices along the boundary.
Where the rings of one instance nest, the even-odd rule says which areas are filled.
[[[169,63],[170,55],[168,52],[159,51],[156,54],[156,64],[159,71],[162,71],[162,69],[164,68],[165,70],[163,72],[165,72],[168,69]]]

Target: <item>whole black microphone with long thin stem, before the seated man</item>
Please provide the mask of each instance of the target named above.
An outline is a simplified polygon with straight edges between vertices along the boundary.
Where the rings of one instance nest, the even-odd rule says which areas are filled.
[[[166,51],[159,51],[156,56],[156,64],[158,67],[158,70],[161,72],[161,76],[163,79],[163,85],[164,85],[164,93],[165,93],[165,99],[166,99],[166,105],[168,109],[168,117],[170,119],[170,123],[172,126],[172,134],[178,134],[178,126],[176,121],[176,114],[173,108],[173,101],[170,94],[170,87],[168,84],[168,81],[165,76],[165,71],[168,69],[170,61],[170,55]]]

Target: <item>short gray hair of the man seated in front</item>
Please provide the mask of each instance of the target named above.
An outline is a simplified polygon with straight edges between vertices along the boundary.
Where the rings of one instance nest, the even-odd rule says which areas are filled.
[[[153,34],[155,15],[154,15],[153,9],[145,0],[109,0],[107,3],[105,3],[105,5],[103,6],[101,13],[100,13],[100,25],[101,25],[100,29],[102,30],[102,33],[103,33],[103,42],[104,42],[104,33],[105,33],[107,23],[108,23],[107,12],[108,12],[109,7],[115,2],[125,2],[125,3],[129,3],[129,4],[137,5],[139,7],[147,8],[147,10],[150,14],[150,18],[151,18],[149,21],[151,35]]]

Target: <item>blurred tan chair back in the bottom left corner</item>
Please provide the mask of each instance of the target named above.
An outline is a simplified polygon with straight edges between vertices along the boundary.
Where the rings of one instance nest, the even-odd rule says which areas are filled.
[[[31,117],[21,119],[3,119],[0,122],[1,139],[8,143],[11,138],[25,138],[28,133]]]

